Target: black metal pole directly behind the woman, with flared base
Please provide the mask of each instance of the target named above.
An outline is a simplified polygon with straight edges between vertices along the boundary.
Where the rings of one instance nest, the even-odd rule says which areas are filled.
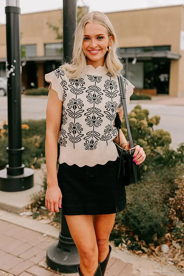
[[[77,1],[63,0],[63,59],[69,62],[73,52],[74,32],[77,24]],[[67,221],[61,209],[59,241],[47,250],[46,261],[52,269],[63,273],[77,272],[79,253],[71,237]]]

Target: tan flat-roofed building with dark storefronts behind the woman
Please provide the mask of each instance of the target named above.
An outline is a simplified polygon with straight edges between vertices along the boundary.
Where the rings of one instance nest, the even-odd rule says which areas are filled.
[[[82,12],[87,11],[83,7]],[[107,13],[118,36],[125,76],[143,93],[184,95],[184,6]],[[22,86],[47,86],[62,62],[62,10],[21,15]],[[6,75],[6,26],[0,26],[0,76]]]

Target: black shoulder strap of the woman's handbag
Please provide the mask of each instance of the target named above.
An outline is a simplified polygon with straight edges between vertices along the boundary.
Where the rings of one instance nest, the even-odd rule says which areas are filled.
[[[128,113],[127,113],[127,106],[126,106],[126,100],[125,100],[125,86],[124,86],[123,76],[121,74],[118,74],[117,79],[118,79],[119,86],[120,86],[121,101],[122,101],[122,105],[123,105],[123,112],[124,112],[124,116],[125,116],[125,123],[126,123],[126,127],[127,127],[130,148],[134,148],[132,134],[130,131],[130,126],[129,126],[129,121],[128,121]]]

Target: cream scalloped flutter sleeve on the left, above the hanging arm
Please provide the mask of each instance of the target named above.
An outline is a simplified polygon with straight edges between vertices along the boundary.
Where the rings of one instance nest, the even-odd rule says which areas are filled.
[[[58,94],[59,100],[62,102],[63,102],[63,86],[61,85],[61,83],[63,82],[63,77],[64,75],[61,68],[58,68],[45,75],[46,82],[50,83],[48,88],[49,92],[52,85],[52,89],[56,91],[56,93]],[[49,92],[48,92],[48,95],[49,95]]]

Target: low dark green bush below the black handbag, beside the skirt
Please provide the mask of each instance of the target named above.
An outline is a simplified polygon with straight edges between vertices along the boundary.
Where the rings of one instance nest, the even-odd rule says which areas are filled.
[[[174,182],[176,176],[176,169],[164,167],[149,171],[140,185],[126,187],[127,206],[117,214],[116,223],[119,230],[116,230],[117,227],[113,229],[111,239],[116,236],[118,243],[121,237],[125,239],[128,231],[133,233],[128,238],[137,235],[139,240],[148,244],[154,242],[155,237],[161,238],[167,231],[168,201],[177,188]],[[132,249],[132,243],[130,245]],[[134,246],[137,246],[137,243]]]

